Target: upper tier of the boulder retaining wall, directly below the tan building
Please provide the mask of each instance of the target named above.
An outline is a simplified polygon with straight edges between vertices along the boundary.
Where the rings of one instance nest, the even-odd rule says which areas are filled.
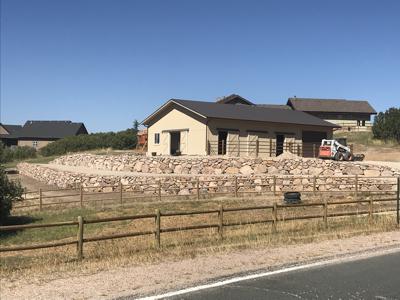
[[[388,167],[356,162],[300,158],[289,153],[284,153],[278,158],[270,159],[221,156],[141,157],[134,155],[75,154],[62,156],[55,159],[52,163],[97,170],[175,175],[395,176],[399,174],[399,171]]]

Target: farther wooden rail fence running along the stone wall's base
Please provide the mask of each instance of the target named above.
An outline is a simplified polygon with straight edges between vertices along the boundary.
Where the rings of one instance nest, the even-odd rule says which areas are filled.
[[[135,184],[123,185],[121,182],[116,185],[103,186],[78,186],[76,188],[50,189],[38,191],[26,191],[24,200],[14,203],[13,209],[38,209],[40,211],[59,207],[60,205],[74,205],[84,207],[86,204],[108,202],[110,204],[125,205],[140,199],[150,199],[162,201],[171,197],[185,197],[192,199],[202,199],[204,197],[232,196],[238,198],[249,194],[258,195],[281,195],[285,191],[293,191],[295,180],[307,179],[308,183],[302,185],[303,189],[295,189],[302,193],[317,195],[320,193],[352,193],[354,200],[357,200],[362,193],[383,193],[395,192],[397,185],[395,177],[359,177],[359,176],[335,176],[337,182],[328,182],[332,177],[324,176],[257,176],[254,179],[261,180],[260,183],[249,182],[245,176],[216,177],[212,180],[200,180],[199,178],[187,178],[171,186],[171,182],[162,183],[161,181],[152,184],[148,182],[138,182]],[[284,185],[283,181],[289,180],[291,183]],[[210,183],[217,186],[210,186]],[[281,184],[279,182],[282,182]],[[367,182],[367,183],[366,183]],[[370,184],[381,186],[384,190],[364,191],[362,185]],[[184,185],[184,188],[179,187]],[[330,186],[329,190],[324,187]],[[305,187],[305,188],[304,188]],[[345,189],[343,189],[345,187]],[[107,192],[93,192],[97,189],[109,188]],[[342,188],[342,189],[341,189]],[[186,189],[188,194],[180,195],[179,191]],[[29,195],[34,195],[30,197]]]

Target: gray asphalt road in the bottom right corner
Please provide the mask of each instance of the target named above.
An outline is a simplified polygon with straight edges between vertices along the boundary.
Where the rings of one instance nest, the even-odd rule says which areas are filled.
[[[169,299],[400,299],[400,252],[240,281]]]

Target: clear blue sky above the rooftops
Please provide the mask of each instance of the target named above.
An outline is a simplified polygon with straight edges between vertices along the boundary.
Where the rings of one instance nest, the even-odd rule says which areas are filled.
[[[400,103],[400,1],[1,0],[1,122],[121,130],[170,98]]]

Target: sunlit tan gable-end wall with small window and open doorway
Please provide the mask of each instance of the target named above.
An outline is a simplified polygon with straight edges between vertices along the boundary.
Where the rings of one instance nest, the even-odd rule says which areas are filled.
[[[170,132],[181,132],[181,153],[187,155],[206,154],[206,123],[198,115],[177,105],[171,107],[148,126],[147,154],[170,154]],[[160,143],[155,143],[155,134],[160,134]]]

